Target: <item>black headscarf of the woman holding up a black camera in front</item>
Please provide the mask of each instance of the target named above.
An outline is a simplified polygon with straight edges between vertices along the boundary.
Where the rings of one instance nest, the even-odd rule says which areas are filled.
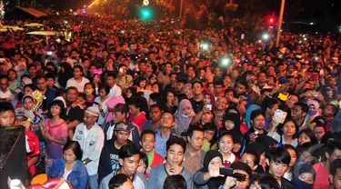
[[[221,161],[223,162],[223,155],[219,151],[217,150],[207,151],[204,157],[203,167],[199,170],[199,172],[207,173],[208,165],[215,157],[220,157]],[[218,176],[215,178],[210,178],[207,182],[207,187],[209,189],[216,189],[220,185],[223,185],[224,183],[225,183],[225,177]]]

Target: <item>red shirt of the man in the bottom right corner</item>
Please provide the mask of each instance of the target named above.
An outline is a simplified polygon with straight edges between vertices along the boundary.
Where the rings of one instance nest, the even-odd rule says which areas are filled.
[[[316,171],[316,181],[314,189],[326,189],[329,187],[329,171],[321,164],[314,164],[313,168]]]

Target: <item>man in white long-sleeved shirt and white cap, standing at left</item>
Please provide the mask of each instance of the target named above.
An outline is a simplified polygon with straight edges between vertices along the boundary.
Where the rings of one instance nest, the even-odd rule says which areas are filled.
[[[75,128],[73,140],[77,141],[83,150],[83,163],[89,174],[88,188],[97,189],[98,164],[101,154],[105,134],[102,128],[95,122],[98,118],[99,110],[97,107],[90,106],[85,110],[84,122]]]

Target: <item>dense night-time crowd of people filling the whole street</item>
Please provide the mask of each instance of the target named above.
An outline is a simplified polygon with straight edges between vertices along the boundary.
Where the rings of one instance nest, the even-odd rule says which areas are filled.
[[[0,34],[0,126],[25,126],[32,177],[75,189],[341,188],[330,34],[282,34],[276,47],[112,17],[44,25],[60,35]]]

